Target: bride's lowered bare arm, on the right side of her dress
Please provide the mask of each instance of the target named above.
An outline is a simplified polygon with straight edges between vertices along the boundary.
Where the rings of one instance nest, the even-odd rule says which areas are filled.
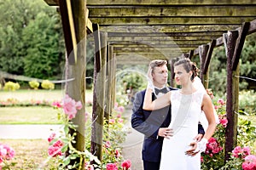
[[[216,129],[216,120],[214,116],[214,108],[212,105],[212,100],[207,94],[204,94],[204,98],[202,101],[202,111],[205,112],[207,121],[208,121],[207,131],[204,135],[204,138],[208,140],[212,137],[212,134]]]

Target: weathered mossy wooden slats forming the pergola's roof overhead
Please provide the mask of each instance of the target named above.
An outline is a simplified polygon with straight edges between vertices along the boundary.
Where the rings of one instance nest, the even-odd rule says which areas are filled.
[[[141,48],[144,50],[141,53],[136,49],[138,46],[126,44],[150,44],[153,48],[169,46],[169,52],[159,50],[169,60],[178,56],[172,49],[176,43],[183,48],[182,53],[192,57],[192,54],[198,54],[201,44],[210,45],[214,40],[215,47],[218,47],[223,44],[223,33],[240,28],[244,22],[256,20],[256,3],[252,0],[89,0],[87,5],[90,20],[98,23],[102,31],[108,31],[108,42],[113,44],[118,63],[123,64],[131,63],[132,55],[132,59],[137,60],[135,54],[148,59],[157,59],[161,55],[148,48]],[[152,54],[156,54],[155,57]],[[139,61],[146,62],[147,59]]]

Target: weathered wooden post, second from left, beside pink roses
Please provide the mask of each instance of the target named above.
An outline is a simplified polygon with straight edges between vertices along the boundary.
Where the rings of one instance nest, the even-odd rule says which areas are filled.
[[[104,98],[106,79],[106,54],[107,54],[107,34],[99,32],[99,26],[93,25],[95,39],[95,69],[94,69],[94,89],[92,106],[92,125],[90,152],[102,161],[102,137],[104,121]],[[104,50],[102,48],[105,48]]]

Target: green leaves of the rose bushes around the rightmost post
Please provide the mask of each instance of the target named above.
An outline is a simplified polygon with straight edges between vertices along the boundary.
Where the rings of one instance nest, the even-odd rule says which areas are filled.
[[[241,164],[244,162],[241,158],[237,159],[231,156],[230,161],[224,162],[225,128],[228,121],[226,119],[225,102],[223,99],[218,99],[218,101],[215,102],[215,109],[218,112],[220,123],[212,136],[214,140],[209,140],[207,144],[207,150],[212,148],[214,150],[211,150],[212,152],[206,150],[205,153],[201,154],[201,169],[241,169]],[[239,118],[237,125],[237,146],[253,146],[255,136],[255,127],[253,127],[252,122],[247,119]]]

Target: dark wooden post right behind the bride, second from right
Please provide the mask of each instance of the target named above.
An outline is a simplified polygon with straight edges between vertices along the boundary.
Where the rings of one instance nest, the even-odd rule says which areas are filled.
[[[205,65],[205,62],[206,62],[206,59],[207,59],[208,48],[209,48],[208,45],[201,45],[199,47],[199,57],[200,57],[200,65],[201,65],[200,78],[201,78],[201,82],[203,83],[204,87],[206,87],[206,84],[205,84],[206,81],[205,80],[208,79],[207,75],[203,74],[204,65]]]

